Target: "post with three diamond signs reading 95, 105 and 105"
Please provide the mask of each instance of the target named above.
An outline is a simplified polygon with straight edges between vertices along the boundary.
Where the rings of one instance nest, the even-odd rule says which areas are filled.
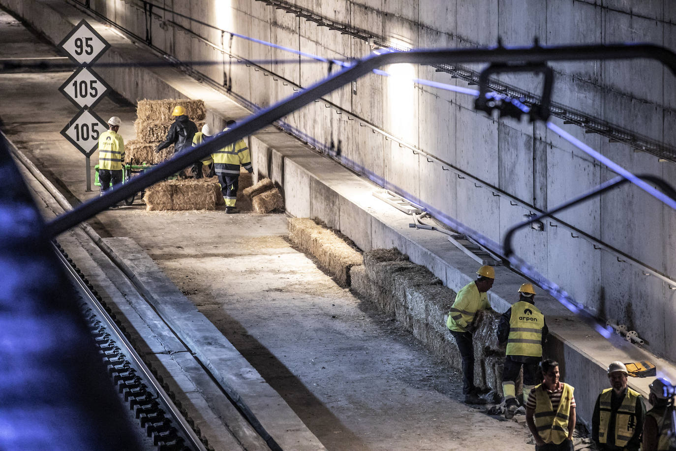
[[[91,191],[90,157],[97,149],[99,136],[108,128],[105,121],[91,108],[99,103],[111,88],[90,66],[110,48],[110,44],[87,21],[80,20],[58,47],[80,66],[59,87],[59,91],[80,108],[78,114],[61,130],[61,134],[84,154],[87,191]]]

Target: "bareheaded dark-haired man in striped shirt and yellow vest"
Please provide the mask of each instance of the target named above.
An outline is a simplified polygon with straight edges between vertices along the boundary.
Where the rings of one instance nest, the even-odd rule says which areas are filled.
[[[559,380],[558,362],[548,358],[540,369],[543,382],[526,401],[526,424],[535,438],[535,451],[573,451],[575,388]]]

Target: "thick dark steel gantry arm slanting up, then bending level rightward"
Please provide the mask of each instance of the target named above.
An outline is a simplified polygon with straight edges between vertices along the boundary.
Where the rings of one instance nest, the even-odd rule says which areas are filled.
[[[418,49],[406,52],[391,52],[382,55],[370,55],[358,60],[354,65],[343,68],[332,76],[298,91],[291,97],[276,103],[260,112],[252,114],[242,120],[237,126],[224,133],[216,135],[190,151],[178,153],[171,160],[155,166],[141,176],[131,179],[128,183],[112,189],[109,193],[84,202],[47,224],[49,237],[74,227],[79,222],[87,220],[119,201],[166,179],[168,176],[206,158],[214,151],[243,139],[256,131],[272,124],[276,120],[291,114],[308,103],[335,91],[343,85],[356,80],[372,70],[387,64],[460,64],[460,63],[490,63],[490,64],[529,64],[554,61],[581,61],[581,60],[631,60],[651,59],[661,62],[676,75],[676,54],[651,44],[617,44],[617,45],[564,45],[552,47],[498,47],[480,49]],[[135,64],[143,66],[143,63]]]

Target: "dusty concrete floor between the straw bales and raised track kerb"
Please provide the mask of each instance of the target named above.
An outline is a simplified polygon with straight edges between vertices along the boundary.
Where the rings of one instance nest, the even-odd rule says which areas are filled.
[[[53,54],[1,17],[2,57]],[[0,118],[76,203],[97,193],[84,191],[84,157],[59,135],[76,114],[57,92],[67,77],[1,74]],[[106,99],[95,110],[120,116],[120,133],[132,138],[131,105]],[[328,449],[522,450],[529,442],[522,424],[459,402],[457,373],[294,250],[283,214],[145,212],[137,201],[91,223],[103,237],[135,239]]]

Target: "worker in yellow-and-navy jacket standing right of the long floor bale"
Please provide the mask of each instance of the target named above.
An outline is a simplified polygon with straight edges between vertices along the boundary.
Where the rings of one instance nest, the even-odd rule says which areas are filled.
[[[237,124],[234,120],[228,120],[223,131],[230,130],[230,128]],[[243,139],[238,139],[235,143],[226,145],[212,153],[211,158],[202,160],[203,164],[214,163],[214,171],[218,176],[218,183],[220,183],[220,191],[225,200],[226,213],[238,213],[235,208],[237,201],[237,189],[239,187],[239,171],[240,165],[243,166],[249,173],[254,172],[251,166],[251,152],[249,147]]]

